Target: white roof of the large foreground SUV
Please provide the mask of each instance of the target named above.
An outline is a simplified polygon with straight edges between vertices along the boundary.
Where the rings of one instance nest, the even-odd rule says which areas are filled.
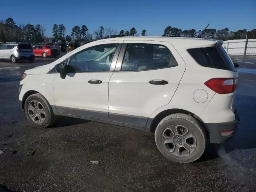
[[[110,41],[110,40],[146,40],[146,41],[162,41],[162,42],[169,42],[175,47],[178,48],[194,48],[194,47],[204,47],[204,46],[216,46],[222,45],[222,40],[214,40],[214,39],[202,39],[202,38],[186,38],[186,37],[162,37],[162,36],[128,36],[128,37],[116,37],[116,38],[109,38],[109,39],[101,39],[94,42],[90,42],[89,44],[95,42],[103,42],[103,41]]]

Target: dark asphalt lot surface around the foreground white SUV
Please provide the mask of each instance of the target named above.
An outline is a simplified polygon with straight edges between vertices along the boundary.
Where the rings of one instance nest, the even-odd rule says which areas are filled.
[[[231,57],[240,65],[238,130],[191,164],[167,160],[154,134],[139,130],[72,118],[33,128],[20,108],[20,77],[55,59],[0,62],[0,191],[256,191],[256,57]]]

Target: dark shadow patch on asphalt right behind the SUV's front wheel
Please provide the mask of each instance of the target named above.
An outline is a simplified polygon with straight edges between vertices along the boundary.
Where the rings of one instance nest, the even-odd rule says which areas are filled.
[[[58,120],[52,124],[51,128],[72,126],[90,122],[84,119],[72,118],[72,117],[58,117]]]

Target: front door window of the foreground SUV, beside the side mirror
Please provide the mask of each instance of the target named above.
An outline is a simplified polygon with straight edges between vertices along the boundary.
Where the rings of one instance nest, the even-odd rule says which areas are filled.
[[[84,49],[70,57],[68,72],[109,71],[118,44],[102,44]]]

